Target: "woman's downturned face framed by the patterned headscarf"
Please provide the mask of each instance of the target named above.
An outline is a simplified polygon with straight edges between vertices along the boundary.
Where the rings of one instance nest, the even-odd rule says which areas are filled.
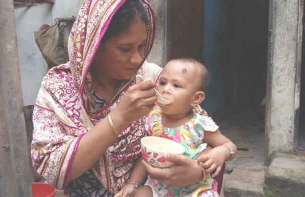
[[[134,76],[144,56],[147,39],[146,25],[137,18],[127,29],[100,45],[94,58],[91,73],[116,80]]]

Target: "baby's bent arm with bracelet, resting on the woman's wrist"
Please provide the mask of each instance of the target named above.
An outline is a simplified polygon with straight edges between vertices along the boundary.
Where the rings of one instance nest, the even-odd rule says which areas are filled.
[[[216,177],[225,161],[232,160],[236,154],[235,144],[219,131],[205,131],[205,142],[214,147],[207,154],[200,154],[197,158],[199,162],[203,162],[202,167],[210,174],[215,171],[212,177]]]

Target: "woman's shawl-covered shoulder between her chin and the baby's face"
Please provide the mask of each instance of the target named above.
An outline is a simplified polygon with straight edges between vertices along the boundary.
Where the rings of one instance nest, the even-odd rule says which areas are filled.
[[[139,74],[144,77],[144,79],[154,79],[155,81],[158,79],[162,72],[162,68],[154,63],[149,63],[145,61],[139,70]]]

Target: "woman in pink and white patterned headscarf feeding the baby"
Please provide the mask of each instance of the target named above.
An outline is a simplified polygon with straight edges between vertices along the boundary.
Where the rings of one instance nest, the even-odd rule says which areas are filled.
[[[43,79],[33,113],[33,165],[70,196],[110,196],[127,182],[145,136],[143,116],[156,101],[161,68],[144,61],[154,33],[144,0],[84,0],[69,38],[70,61]],[[135,85],[136,73],[150,80]],[[152,176],[174,186],[200,179],[195,162],[172,159],[174,179],[149,169]]]

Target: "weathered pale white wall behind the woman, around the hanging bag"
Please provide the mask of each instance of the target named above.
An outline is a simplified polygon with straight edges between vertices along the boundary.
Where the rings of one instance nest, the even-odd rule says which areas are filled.
[[[47,65],[35,43],[34,31],[55,18],[77,16],[82,0],[56,0],[55,4],[38,4],[15,9],[17,45],[24,106],[35,103]]]

